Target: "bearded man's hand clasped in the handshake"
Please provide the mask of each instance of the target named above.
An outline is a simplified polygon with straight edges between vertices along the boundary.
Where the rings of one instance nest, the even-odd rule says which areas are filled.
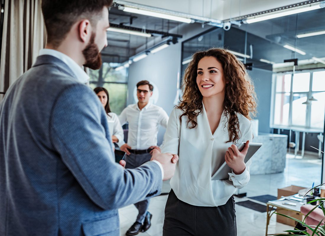
[[[178,155],[170,153],[160,153],[157,149],[152,152],[151,161],[156,160],[162,164],[164,176],[162,180],[169,180],[174,176]]]

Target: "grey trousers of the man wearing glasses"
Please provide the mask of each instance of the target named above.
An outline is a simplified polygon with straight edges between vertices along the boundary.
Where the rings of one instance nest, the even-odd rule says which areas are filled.
[[[150,159],[151,159],[151,155],[149,153],[137,154],[137,155],[131,153],[130,155],[125,156],[125,162],[126,162],[125,168],[128,169],[137,168],[142,164],[146,163],[147,161],[150,161]],[[136,217],[137,222],[143,223],[144,218],[146,217],[148,211],[149,202],[150,202],[149,200],[144,200],[134,204],[139,211],[139,214]]]

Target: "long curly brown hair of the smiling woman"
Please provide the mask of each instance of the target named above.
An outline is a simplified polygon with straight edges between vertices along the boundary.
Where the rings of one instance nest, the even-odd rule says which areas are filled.
[[[197,126],[197,116],[202,113],[202,94],[196,83],[199,61],[206,56],[214,57],[221,63],[226,80],[224,109],[228,118],[229,140],[236,142],[239,137],[239,121],[236,113],[248,119],[256,114],[256,93],[254,85],[247,74],[246,68],[235,55],[223,48],[211,48],[207,51],[197,52],[185,70],[183,79],[184,94],[177,108],[184,111],[180,116],[188,117],[187,127],[193,129]],[[190,125],[189,125],[190,124]]]

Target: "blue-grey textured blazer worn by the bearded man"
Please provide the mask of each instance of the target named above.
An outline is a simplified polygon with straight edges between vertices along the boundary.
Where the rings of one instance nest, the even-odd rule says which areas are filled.
[[[160,194],[154,162],[116,164],[96,94],[39,56],[0,104],[0,235],[119,236],[118,208]]]

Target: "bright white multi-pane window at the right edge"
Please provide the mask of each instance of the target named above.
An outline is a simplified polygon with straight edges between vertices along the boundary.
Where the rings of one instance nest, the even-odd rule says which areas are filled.
[[[272,127],[324,129],[325,70],[274,74],[273,84]]]

